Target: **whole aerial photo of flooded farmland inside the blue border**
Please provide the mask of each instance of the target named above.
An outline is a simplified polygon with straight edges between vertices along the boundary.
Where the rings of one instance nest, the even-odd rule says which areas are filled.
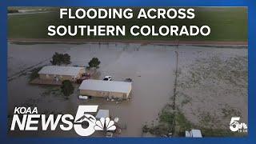
[[[195,8],[212,34],[191,38],[49,38],[56,9],[9,9],[10,136],[247,135],[232,131],[248,122],[245,7]]]

